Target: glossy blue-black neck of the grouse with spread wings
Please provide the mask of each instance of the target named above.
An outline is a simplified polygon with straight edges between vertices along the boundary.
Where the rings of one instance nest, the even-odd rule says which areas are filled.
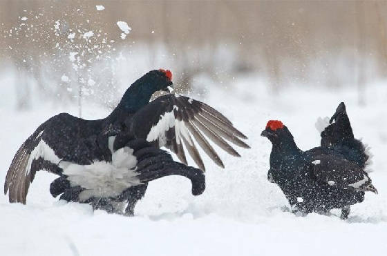
[[[117,119],[133,115],[149,103],[153,92],[151,84],[147,84],[147,81],[135,81],[124,93],[120,104],[107,117],[108,121],[115,123]]]

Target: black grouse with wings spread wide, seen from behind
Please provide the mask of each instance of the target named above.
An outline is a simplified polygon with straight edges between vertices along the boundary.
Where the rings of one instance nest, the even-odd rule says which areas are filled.
[[[26,204],[30,183],[39,170],[60,177],[50,185],[54,197],[92,204],[113,213],[133,215],[148,181],[167,175],[191,179],[193,195],[205,190],[205,166],[194,139],[218,166],[224,167],[207,138],[230,154],[227,141],[249,148],[225,116],[207,104],[180,95],[149,102],[158,90],[173,86],[169,70],[152,70],[135,81],[108,117],[84,120],[66,113],[51,117],[23,143],[8,170],[4,193]],[[203,135],[204,134],[204,135]],[[227,141],[225,141],[227,140]],[[185,150],[200,169],[187,166]],[[159,148],[178,155],[183,164]]]

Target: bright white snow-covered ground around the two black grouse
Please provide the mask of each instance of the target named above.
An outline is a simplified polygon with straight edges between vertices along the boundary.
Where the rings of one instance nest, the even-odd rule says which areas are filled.
[[[0,80],[0,184],[17,148],[41,122],[59,112],[77,114],[75,106],[39,104],[17,112],[12,79]],[[198,81],[200,84],[200,81]],[[203,85],[202,85],[203,86]],[[288,88],[272,95],[263,81],[236,78],[211,84],[202,99],[223,112],[249,137],[241,158],[221,152],[225,170],[205,157],[207,190],[191,195],[183,177],[152,181],[135,217],[93,212],[91,206],[66,204],[50,196],[54,176],[38,173],[27,205],[9,204],[0,195],[0,255],[385,255],[387,250],[387,87],[366,90],[366,106],[357,105],[350,88]],[[330,116],[345,101],[356,137],[372,147],[370,166],[379,195],[366,194],[352,206],[348,220],[334,215],[295,217],[287,201],[267,181],[270,142],[261,137],[268,119],[281,119],[301,149],[319,144],[317,117]],[[84,117],[104,117],[108,110],[93,104]]]

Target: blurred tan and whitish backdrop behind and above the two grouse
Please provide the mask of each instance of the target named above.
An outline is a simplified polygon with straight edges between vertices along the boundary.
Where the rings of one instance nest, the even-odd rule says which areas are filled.
[[[359,104],[387,78],[386,1],[1,0],[0,24],[1,93],[19,109],[35,92],[111,107],[153,68],[201,94],[259,77],[273,95],[350,87]]]

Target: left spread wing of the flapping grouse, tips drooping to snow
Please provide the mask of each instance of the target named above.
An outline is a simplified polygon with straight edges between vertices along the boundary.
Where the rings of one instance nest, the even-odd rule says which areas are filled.
[[[97,145],[97,136],[82,139],[87,129],[82,129],[82,119],[68,114],[59,114],[41,124],[37,130],[21,145],[12,159],[6,175],[4,194],[8,193],[10,202],[26,204],[30,183],[39,170],[60,175],[60,161],[72,161],[77,164],[90,164],[101,155],[108,160],[111,155],[101,151]],[[107,150],[107,147],[106,147]],[[106,151],[105,150],[105,151]],[[108,150],[107,150],[108,151]]]

